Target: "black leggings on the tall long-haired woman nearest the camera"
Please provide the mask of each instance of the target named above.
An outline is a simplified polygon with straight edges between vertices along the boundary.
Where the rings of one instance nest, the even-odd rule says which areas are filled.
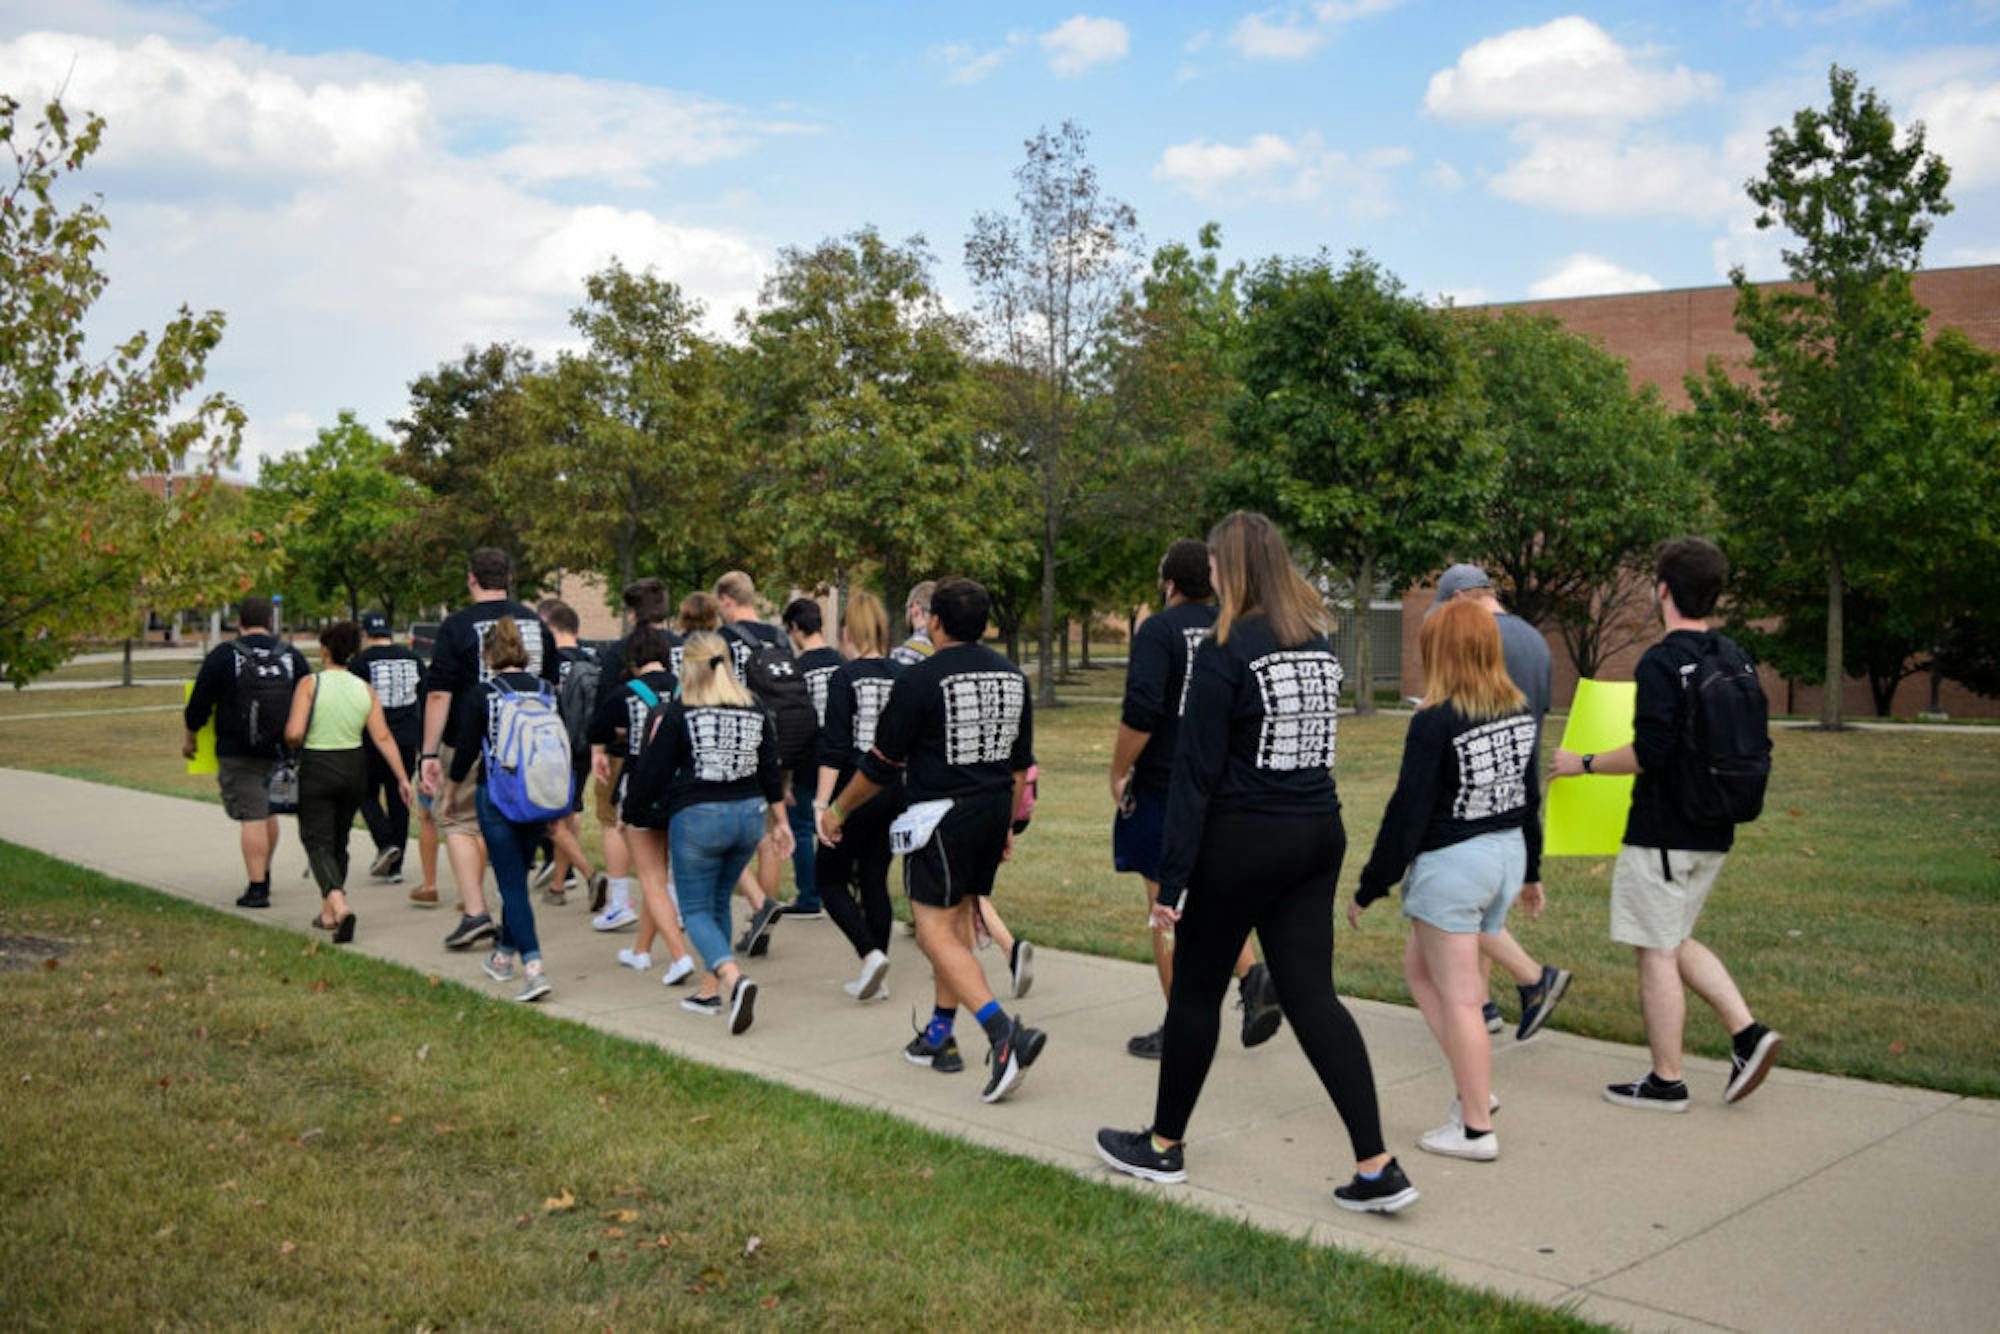
[[[1188,906],[1174,928],[1174,994],[1166,1004],[1154,1134],[1186,1138],[1216,1056],[1236,956],[1256,930],[1284,1018],[1346,1122],[1354,1158],[1382,1152],[1368,1046],[1334,996],[1334,886],[1346,850],[1338,810],[1224,814],[1208,822]]]

